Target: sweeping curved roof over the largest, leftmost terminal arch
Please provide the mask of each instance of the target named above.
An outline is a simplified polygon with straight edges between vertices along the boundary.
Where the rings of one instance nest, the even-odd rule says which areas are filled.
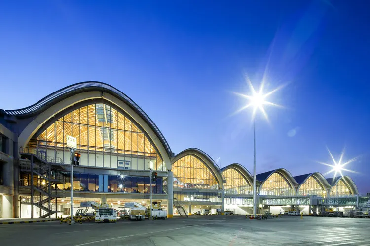
[[[118,89],[112,87],[103,82],[98,81],[86,81],[76,83],[67,87],[64,87],[56,92],[53,92],[37,103],[22,109],[16,110],[3,110],[3,112],[7,115],[13,115],[19,118],[26,118],[33,115],[37,115],[39,112],[42,112],[52,105],[66,99],[69,96],[81,93],[81,92],[89,92],[89,91],[100,91],[100,92],[107,92],[116,96],[120,100],[122,100],[126,105],[128,105],[132,110],[134,110],[153,130],[153,132],[157,135],[158,139],[161,141],[162,145],[166,149],[168,156],[173,157],[173,153],[169,144],[167,143],[166,139],[164,138],[163,134],[160,132],[159,128],[155,125],[155,123],[149,118],[149,116],[141,109],[130,97],[128,97],[123,92],[119,91]]]

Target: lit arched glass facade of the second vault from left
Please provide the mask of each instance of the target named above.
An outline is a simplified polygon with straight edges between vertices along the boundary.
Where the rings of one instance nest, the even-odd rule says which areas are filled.
[[[186,155],[172,165],[174,187],[219,189],[215,176],[207,165],[193,155]]]

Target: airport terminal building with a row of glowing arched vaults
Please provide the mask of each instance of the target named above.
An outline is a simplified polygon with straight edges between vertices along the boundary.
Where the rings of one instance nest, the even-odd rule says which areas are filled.
[[[81,154],[73,180],[67,136]],[[212,208],[252,214],[253,176],[243,165],[220,169],[196,148],[173,153],[144,110],[108,84],[77,83],[27,108],[0,109],[0,218],[68,215],[71,189],[76,208],[84,201],[147,206],[149,168],[157,172],[153,201],[168,217]],[[258,213],[345,211],[368,201],[348,176],[276,169],[256,179]]]

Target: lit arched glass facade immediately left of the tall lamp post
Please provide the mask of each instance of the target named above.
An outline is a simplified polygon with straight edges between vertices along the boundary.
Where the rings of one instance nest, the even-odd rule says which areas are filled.
[[[223,184],[226,194],[253,194],[252,185],[234,168],[222,172],[226,179]]]

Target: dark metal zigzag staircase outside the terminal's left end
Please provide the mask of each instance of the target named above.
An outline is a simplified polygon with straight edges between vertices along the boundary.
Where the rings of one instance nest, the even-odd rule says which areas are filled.
[[[58,172],[43,156],[22,152],[20,155],[19,193],[30,196],[27,199],[23,198],[21,204],[32,205],[32,218],[34,206],[40,209],[40,218],[50,218],[52,214],[62,213],[65,206],[58,205],[56,198],[65,197],[65,191],[58,189],[57,184],[65,184],[65,176]]]

